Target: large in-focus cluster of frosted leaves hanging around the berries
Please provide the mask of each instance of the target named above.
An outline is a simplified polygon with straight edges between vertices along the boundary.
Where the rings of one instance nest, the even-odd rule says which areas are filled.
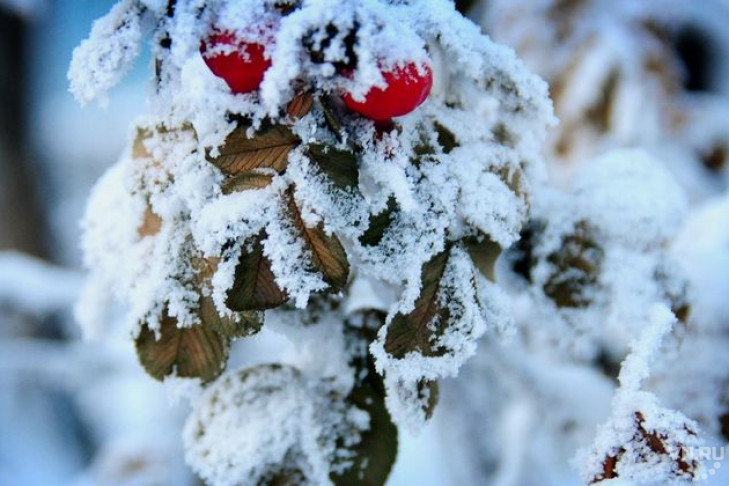
[[[258,90],[208,69],[214,31],[265,46]],[[77,98],[103,101],[142,39],[154,92],[89,200],[77,315],[101,333],[121,305],[150,374],[204,387],[185,445],[211,484],[381,484],[393,422],[421,428],[511,325],[493,270],[544,177],[546,84],[447,0],[122,1],[74,54]],[[342,102],[408,63],[435,78],[409,115]],[[218,377],[262,324],[298,352]]]

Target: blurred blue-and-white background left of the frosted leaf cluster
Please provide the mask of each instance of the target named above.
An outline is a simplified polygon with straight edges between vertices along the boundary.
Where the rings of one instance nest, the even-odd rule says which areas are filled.
[[[109,0],[0,0],[0,485],[190,484],[180,411],[124,339],[73,319],[79,219],[144,107],[148,60],[106,109],[68,93]],[[142,479],[140,479],[142,478]]]

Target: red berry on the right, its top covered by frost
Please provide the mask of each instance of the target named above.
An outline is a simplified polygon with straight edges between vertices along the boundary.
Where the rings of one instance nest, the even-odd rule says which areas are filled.
[[[383,71],[382,77],[387,83],[384,88],[373,87],[364,101],[355,101],[346,93],[344,104],[370,120],[385,121],[413,111],[425,101],[433,87],[433,71],[429,65],[418,71],[418,66],[410,62],[396,66],[392,71]]]

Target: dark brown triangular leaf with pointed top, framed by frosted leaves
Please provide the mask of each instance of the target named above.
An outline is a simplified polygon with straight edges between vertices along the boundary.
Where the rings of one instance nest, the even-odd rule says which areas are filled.
[[[244,248],[235,268],[233,286],[226,305],[235,311],[272,309],[288,300],[276,283],[271,261],[263,254],[264,234],[256,236],[250,248]]]

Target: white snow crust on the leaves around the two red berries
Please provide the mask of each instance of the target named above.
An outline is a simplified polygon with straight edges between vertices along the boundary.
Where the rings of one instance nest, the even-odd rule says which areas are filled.
[[[100,311],[94,310],[93,299],[103,286],[129,308],[126,328],[132,334],[140,322],[155,328],[155,319],[163,309],[180,326],[196,324],[196,302],[184,276],[192,271],[185,259],[198,251],[206,257],[223,257],[212,278],[212,290],[217,307],[224,312],[224,296],[232,284],[234,268],[226,260],[233,261],[238,255],[236,250],[224,251],[224,247],[231,241],[248,241],[263,229],[267,236],[264,254],[277,284],[303,308],[326,284],[307,269],[310,257],[285,216],[282,200],[288,187],[295,188],[294,198],[307,224],[323,221],[326,231],[347,239],[350,256],[359,262],[363,276],[403,286],[392,312],[412,309],[420,292],[420,268],[445,248],[445,241],[478,231],[504,247],[515,241],[526,219],[525,178],[540,172],[541,161],[534,151],[544,127],[553,122],[546,86],[524,70],[513,52],[491,43],[476,26],[454,15],[448,2],[427,3],[425,8],[424,4],[391,5],[374,0],[304,2],[301,8],[281,17],[259,2],[212,4],[202,14],[195,2],[178,2],[174,17],[160,18],[164,33],[159,31],[154,37],[169,36],[172,47],[164,52],[153,46],[162,66],[157,94],[151,100],[152,113],[137,124],[137,131],[149,134],[143,142],[147,153],[131,157],[127,153],[92,196],[85,219],[85,247],[86,263],[92,270],[89,288],[95,291],[87,292],[89,298],[79,306],[78,315],[86,316],[87,322],[97,319]],[[87,59],[106,59],[104,49],[131,52],[125,46],[131,46],[136,37],[125,29],[133,30],[136,20],[119,19],[133,15],[134,5],[115,7],[77,51],[70,76],[72,87],[83,87],[74,88],[81,101],[103,95],[121,74],[114,63]],[[323,46],[324,33],[316,29],[327,23],[341,33],[358,29],[358,64],[351,79],[332,73],[333,63],[343,61],[347,53],[346,36],[329,40],[322,65],[306,60],[308,54],[302,52],[307,44],[302,39],[310,35],[315,46]],[[119,25],[121,29],[112,28]],[[206,72],[197,46],[211,25],[270,47],[273,67],[267,71],[259,93],[233,96]],[[241,25],[266,28],[246,30],[238,27]],[[357,96],[382,83],[380,68],[404,60],[425,62],[426,40],[436,38],[445,52],[458,60],[449,67],[453,88],[447,98],[452,98],[451,104],[445,104],[446,97],[433,97],[402,120],[401,131],[380,139],[374,136],[371,125],[363,126],[361,120],[335,107],[345,133],[360,148],[361,193],[342,193],[322,183],[303,149],[294,149],[288,156],[288,170],[274,175],[270,186],[222,194],[222,178],[207,163],[205,154],[212,150],[214,155],[232,128],[224,112],[250,116],[253,128],[265,115],[271,122],[285,123],[278,113],[293,95],[290,86],[294,78],[308,80],[320,92],[345,89]],[[100,44],[104,49],[96,47]],[[483,62],[474,64],[475,59]],[[98,73],[87,69],[89,62],[99,65]],[[480,116],[467,109],[466,96],[481,97]],[[205,110],[201,110],[203,103]],[[315,107],[296,122],[295,132],[307,134],[307,142],[319,137],[327,140],[321,119]],[[487,123],[482,122],[484,119]],[[435,127],[440,123],[453,132],[459,144],[448,153],[437,148]],[[169,128],[160,130],[160,125]],[[508,146],[494,140],[496,126],[512,125],[518,128]],[[423,138],[435,145],[436,152],[414,166],[414,147]],[[520,188],[510,186],[514,178],[523,181]],[[392,230],[386,232],[380,245],[357,244],[363,223],[391,196],[402,209]],[[157,234],[140,238],[136,228],[142,224],[147,205],[162,219],[162,226]],[[112,207],[116,211],[126,208],[119,221],[108,218]],[[426,360],[427,365],[417,364],[420,358],[414,356],[395,366],[384,354],[376,353],[378,366],[393,380],[408,376],[412,385],[423,377],[454,375],[473,354],[475,342],[487,325],[506,327],[503,320],[485,321],[494,314],[479,309],[471,279],[459,281],[456,277],[474,273],[467,260],[465,255],[454,254],[449,263],[454,269],[448,271],[452,276],[444,280],[444,288],[451,289],[460,302],[458,309],[448,303],[458,322],[452,333],[441,338],[442,345],[452,349],[452,356],[440,360],[441,364]]]

